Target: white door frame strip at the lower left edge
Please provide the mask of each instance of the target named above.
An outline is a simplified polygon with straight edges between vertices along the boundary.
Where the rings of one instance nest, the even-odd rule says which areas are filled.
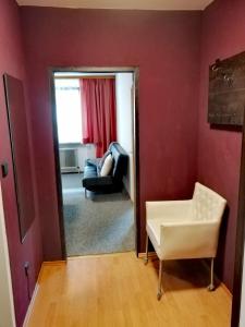
[[[0,183],[0,327],[15,327],[9,250]]]

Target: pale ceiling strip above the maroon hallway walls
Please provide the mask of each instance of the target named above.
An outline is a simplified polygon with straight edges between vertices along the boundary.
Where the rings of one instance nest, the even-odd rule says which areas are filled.
[[[137,10],[204,10],[213,0],[16,0],[20,5],[137,9]]]

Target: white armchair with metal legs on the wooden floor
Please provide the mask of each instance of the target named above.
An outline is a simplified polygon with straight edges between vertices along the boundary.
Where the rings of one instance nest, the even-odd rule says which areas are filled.
[[[162,294],[162,262],[211,258],[208,290],[213,290],[213,258],[217,254],[221,218],[226,201],[212,190],[195,184],[188,201],[146,202],[146,264],[148,238],[159,257],[157,299]]]

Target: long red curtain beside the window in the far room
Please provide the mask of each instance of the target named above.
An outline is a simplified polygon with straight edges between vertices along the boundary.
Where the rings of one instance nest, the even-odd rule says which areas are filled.
[[[114,78],[81,78],[79,83],[83,143],[96,144],[96,156],[102,157],[117,141]]]

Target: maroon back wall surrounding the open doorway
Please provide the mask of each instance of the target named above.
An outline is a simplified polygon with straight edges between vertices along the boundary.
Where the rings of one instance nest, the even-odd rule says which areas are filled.
[[[140,243],[145,201],[196,180],[199,12],[22,8],[44,251],[60,258],[48,66],[139,66]],[[140,251],[144,251],[142,246]]]

